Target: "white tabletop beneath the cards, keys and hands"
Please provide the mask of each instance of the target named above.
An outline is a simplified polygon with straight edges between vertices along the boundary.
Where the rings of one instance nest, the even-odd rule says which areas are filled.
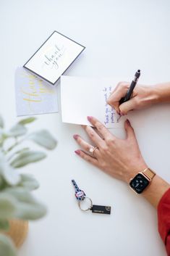
[[[169,11],[169,0],[1,0],[0,112],[7,126],[17,120],[14,71],[54,30],[87,47],[66,75],[130,80],[140,68],[140,83],[169,80]],[[60,101],[60,84],[57,90]],[[145,113],[145,127],[135,129],[140,149],[150,168],[170,181],[170,107]],[[33,128],[48,128],[58,145],[46,160],[23,170],[40,181],[35,196],[47,205],[48,215],[30,223],[20,256],[166,255],[156,210],[127,185],[75,155],[72,136],[85,133],[79,125],[61,123],[60,105],[59,113],[40,115]],[[124,136],[124,129],[111,131]],[[111,205],[111,215],[81,212],[72,178],[95,204]]]

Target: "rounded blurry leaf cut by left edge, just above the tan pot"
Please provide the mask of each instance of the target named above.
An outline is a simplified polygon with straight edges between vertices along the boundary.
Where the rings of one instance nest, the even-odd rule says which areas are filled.
[[[1,192],[0,194],[0,219],[14,218],[16,213],[16,200],[11,194]]]

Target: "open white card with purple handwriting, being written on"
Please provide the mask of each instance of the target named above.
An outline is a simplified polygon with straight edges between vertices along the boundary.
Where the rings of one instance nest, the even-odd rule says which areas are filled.
[[[107,128],[122,128],[127,117],[121,117],[107,104],[119,79],[61,76],[61,114],[64,123],[90,125],[87,116],[98,118]],[[143,126],[145,117],[128,114],[134,127]]]

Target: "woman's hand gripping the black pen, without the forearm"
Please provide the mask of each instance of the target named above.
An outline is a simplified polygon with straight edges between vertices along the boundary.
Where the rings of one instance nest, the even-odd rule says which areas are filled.
[[[120,82],[112,91],[108,99],[108,104],[114,107],[116,112],[120,115],[127,115],[130,110],[140,110],[144,107],[148,107],[157,100],[157,94],[155,86],[142,86],[135,87],[132,98],[129,101],[119,104],[120,99],[125,96],[130,83]]]

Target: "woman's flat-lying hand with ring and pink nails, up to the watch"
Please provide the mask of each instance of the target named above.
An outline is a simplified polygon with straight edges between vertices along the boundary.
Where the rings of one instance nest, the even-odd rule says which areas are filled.
[[[118,139],[112,135],[109,130],[100,123],[95,117],[88,117],[89,122],[97,129],[98,133],[90,126],[83,126],[88,133],[93,144],[98,148],[95,149],[93,157],[89,154],[89,149],[93,148],[79,135],[74,135],[77,144],[82,149],[77,149],[76,154],[80,155],[84,160],[97,166],[104,172],[114,178],[129,183],[139,171],[148,168],[140,153],[137,139],[132,126],[127,120],[124,128],[127,131],[126,139]],[[99,136],[100,134],[101,136]]]

